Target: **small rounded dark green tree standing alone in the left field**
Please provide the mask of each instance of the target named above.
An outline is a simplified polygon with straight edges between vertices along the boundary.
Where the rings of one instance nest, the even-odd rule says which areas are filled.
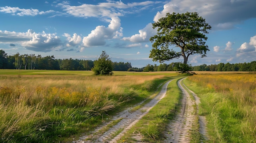
[[[105,51],[102,51],[100,57],[94,61],[94,67],[92,68],[92,71],[96,75],[112,75],[112,70],[112,61],[109,55]]]

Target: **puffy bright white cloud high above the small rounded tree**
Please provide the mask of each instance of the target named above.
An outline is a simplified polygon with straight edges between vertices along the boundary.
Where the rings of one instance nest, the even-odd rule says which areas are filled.
[[[121,33],[121,20],[118,17],[112,17],[111,19],[108,27],[97,26],[88,36],[83,37],[83,46],[102,46],[106,44],[105,40],[118,37]],[[117,33],[119,33],[119,35]]]

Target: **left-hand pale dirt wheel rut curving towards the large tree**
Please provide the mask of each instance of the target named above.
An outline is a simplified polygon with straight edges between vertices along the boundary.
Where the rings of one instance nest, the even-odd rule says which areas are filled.
[[[141,119],[144,115],[146,115],[151,108],[153,108],[159,100],[161,100],[166,95],[166,90],[168,84],[172,80],[167,81],[163,86],[161,91],[152,99],[149,103],[145,104],[142,108],[130,112],[129,109],[120,112],[117,116],[113,117],[112,120],[121,119],[119,123],[112,126],[109,130],[104,133],[100,133],[99,131],[106,127],[107,125],[98,128],[90,135],[81,136],[78,141],[73,141],[72,143],[116,143],[117,140],[123,136],[128,129],[135,125],[139,119]]]

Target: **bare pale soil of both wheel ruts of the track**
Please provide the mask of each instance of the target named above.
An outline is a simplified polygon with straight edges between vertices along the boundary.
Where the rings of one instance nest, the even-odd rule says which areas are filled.
[[[198,106],[198,103],[200,103],[199,98],[193,93],[193,97],[195,99],[191,99],[189,96],[189,93],[181,86],[181,79],[178,81],[178,86],[182,90],[182,108],[179,113],[177,113],[175,120],[170,121],[170,123],[166,127],[165,136],[166,138],[163,140],[163,143],[189,143],[190,142],[190,130],[192,128],[192,125],[198,121],[200,125],[200,134],[207,139],[206,134],[206,120],[204,117],[199,116],[197,119],[197,115],[195,112],[198,112],[198,108],[195,110],[193,108],[193,105],[196,103]],[[137,121],[139,121],[144,115],[148,113],[148,111],[153,108],[159,100],[161,100],[166,95],[166,90],[168,84],[172,80],[166,82],[162,86],[162,90],[159,92],[158,95],[156,95],[149,103],[145,104],[142,108],[136,111],[130,111],[131,108],[128,108],[124,110],[123,112],[120,112],[116,116],[109,119],[110,123],[111,121],[115,121],[117,119],[121,119],[119,123],[112,126],[109,130],[106,132],[100,132],[103,128],[105,128],[108,123],[105,125],[97,128],[93,132],[91,132],[89,135],[83,135],[79,138],[77,141],[73,141],[72,143],[116,143],[117,140],[121,139],[121,136],[124,136],[124,134],[129,130]],[[141,104],[141,103],[140,103]],[[142,141],[142,136],[139,134],[135,134],[133,136],[134,139],[137,140],[136,143],[144,143]]]

